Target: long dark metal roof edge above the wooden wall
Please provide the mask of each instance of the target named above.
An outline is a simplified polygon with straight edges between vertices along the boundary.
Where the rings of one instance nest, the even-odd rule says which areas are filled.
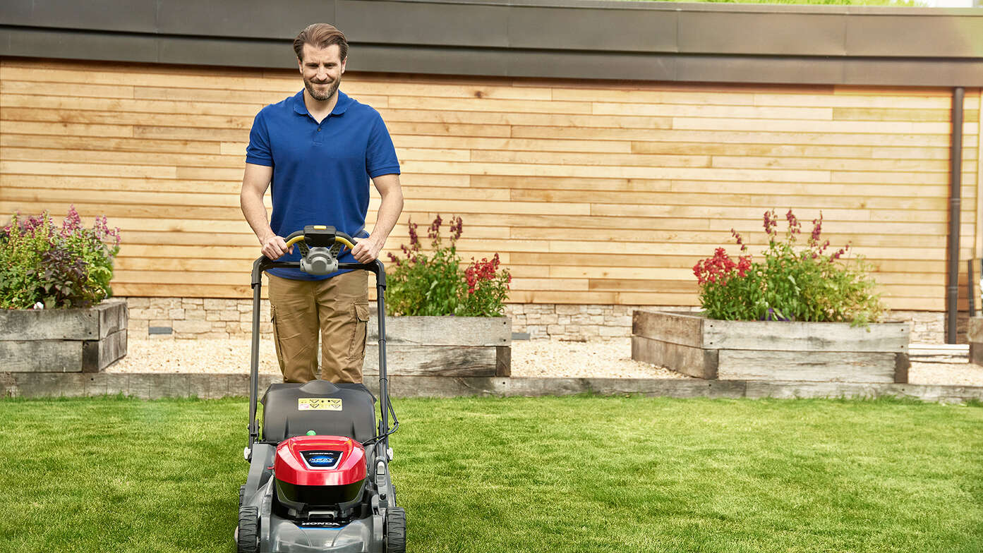
[[[12,0],[0,6],[0,56],[291,68],[297,30],[329,21],[351,41],[353,71],[983,86],[979,9],[595,0],[290,0],[292,10],[285,4],[104,0],[95,13],[76,0],[50,0],[43,8]]]

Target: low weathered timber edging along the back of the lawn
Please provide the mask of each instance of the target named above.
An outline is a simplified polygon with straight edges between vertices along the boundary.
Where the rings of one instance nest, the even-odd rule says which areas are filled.
[[[260,389],[280,380],[260,374]],[[983,386],[851,382],[767,382],[681,378],[534,378],[390,376],[394,397],[602,396],[644,395],[671,398],[912,398],[930,402],[983,401]],[[370,383],[370,388],[375,388]],[[131,396],[140,399],[249,395],[245,373],[13,373],[0,372],[0,397],[49,398]]]

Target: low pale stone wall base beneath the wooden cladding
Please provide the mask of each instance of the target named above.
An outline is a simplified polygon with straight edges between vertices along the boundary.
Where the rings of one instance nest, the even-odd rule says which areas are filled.
[[[252,300],[202,298],[128,298],[130,339],[247,338],[252,329]],[[370,306],[375,309],[376,304]],[[508,304],[512,332],[525,332],[533,340],[585,341],[631,336],[635,309],[691,310],[673,305]],[[262,301],[260,332],[272,333],[269,304]],[[946,342],[946,314],[941,311],[892,311],[890,318],[911,323],[911,342]],[[965,321],[960,313],[959,337],[965,341]],[[149,335],[149,327],[173,329],[172,334]]]

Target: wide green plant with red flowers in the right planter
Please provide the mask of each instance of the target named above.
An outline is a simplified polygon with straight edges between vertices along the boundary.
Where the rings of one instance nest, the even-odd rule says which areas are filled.
[[[885,310],[871,266],[863,257],[846,259],[849,245],[827,253],[830,242],[821,242],[823,216],[813,221],[807,246],[796,251],[801,223],[791,210],[785,214],[788,229],[778,237],[775,210],[765,213],[769,237],[763,261],[750,254],[734,261],[723,248],[693,267],[700,286],[700,304],[708,317],[724,320],[849,321],[866,325]],[[741,251],[741,236],[731,230]]]

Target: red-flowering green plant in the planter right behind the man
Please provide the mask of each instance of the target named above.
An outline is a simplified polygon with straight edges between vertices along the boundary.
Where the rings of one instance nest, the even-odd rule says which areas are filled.
[[[440,237],[440,216],[428,228],[433,253],[421,251],[417,224],[410,221],[410,246],[405,259],[389,254],[396,269],[388,275],[386,312],[390,315],[500,316],[508,298],[508,270],[498,271],[498,254],[475,261],[464,270],[457,254],[463,222],[450,220],[449,246]]]

